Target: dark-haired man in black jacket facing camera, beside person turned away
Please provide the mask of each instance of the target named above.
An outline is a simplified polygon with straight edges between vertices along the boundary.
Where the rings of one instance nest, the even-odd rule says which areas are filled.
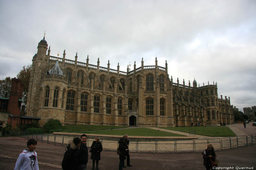
[[[88,162],[88,148],[86,146],[87,136],[86,134],[81,135],[81,145],[79,149],[78,155],[78,165],[79,170],[86,170],[87,162]]]

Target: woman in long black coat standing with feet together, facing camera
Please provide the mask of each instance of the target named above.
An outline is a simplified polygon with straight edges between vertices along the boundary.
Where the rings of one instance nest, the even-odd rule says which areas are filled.
[[[91,145],[91,159],[93,159],[93,169],[96,161],[96,169],[98,170],[99,167],[99,160],[101,160],[101,151],[102,151],[102,145],[99,141],[99,137],[96,137],[95,141],[93,141],[93,144]]]

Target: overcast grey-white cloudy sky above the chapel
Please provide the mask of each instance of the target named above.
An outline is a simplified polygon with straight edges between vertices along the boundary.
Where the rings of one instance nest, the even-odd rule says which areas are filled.
[[[175,81],[214,81],[240,111],[256,105],[255,0],[1,0],[0,23],[0,79],[32,63],[46,31],[52,56],[121,71],[157,56]]]

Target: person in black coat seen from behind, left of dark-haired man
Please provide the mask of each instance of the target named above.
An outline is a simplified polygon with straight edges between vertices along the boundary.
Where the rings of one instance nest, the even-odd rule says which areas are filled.
[[[68,150],[65,152],[62,160],[63,170],[78,170],[78,148],[81,144],[81,139],[76,137],[71,139],[68,145]]]

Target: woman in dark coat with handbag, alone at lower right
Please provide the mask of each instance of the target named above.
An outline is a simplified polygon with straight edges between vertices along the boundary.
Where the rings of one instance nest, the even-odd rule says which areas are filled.
[[[214,152],[214,148],[211,144],[207,146],[207,149],[202,153],[204,159],[204,166],[206,170],[213,170],[213,167],[217,167],[218,165],[215,163],[215,160],[218,158]]]

